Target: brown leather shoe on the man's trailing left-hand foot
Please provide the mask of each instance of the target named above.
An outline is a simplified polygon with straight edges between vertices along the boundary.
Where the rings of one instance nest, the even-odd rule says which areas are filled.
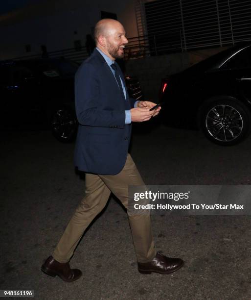
[[[47,275],[55,277],[58,275],[62,280],[71,282],[77,280],[82,272],[78,269],[70,269],[69,263],[62,264],[56,261],[51,255],[42,265],[41,270]]]

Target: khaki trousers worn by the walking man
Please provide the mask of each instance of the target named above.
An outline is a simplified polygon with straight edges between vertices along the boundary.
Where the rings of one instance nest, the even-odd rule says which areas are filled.
[[[105,207],[111,192],[128,208],[128,186],[144,185],[130,154],[117,175],[86,174],[85,197],[76,209],[52,256],[61,263],[69,261],[81,236],[94,217]],[[138,262],[149,262],[156,255],[150,213],[128,213]]]

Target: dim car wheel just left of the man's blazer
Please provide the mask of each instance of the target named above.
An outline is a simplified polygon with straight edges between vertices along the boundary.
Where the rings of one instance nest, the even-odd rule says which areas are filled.
[[[60,142],[71,142],[77,133],[75,115],[67,108],[57,109],[51,119],[52,133]]]

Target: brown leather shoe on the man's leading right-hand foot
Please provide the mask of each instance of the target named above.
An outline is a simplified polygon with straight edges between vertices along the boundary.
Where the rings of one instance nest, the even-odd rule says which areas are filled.
[[[169,274],[179,270],[184,262],[181,258],[170,258],[157,252],[152,261],[147,263],[137,263],[138,272],[142,274],[151,274],[152,272],[160,274]]]

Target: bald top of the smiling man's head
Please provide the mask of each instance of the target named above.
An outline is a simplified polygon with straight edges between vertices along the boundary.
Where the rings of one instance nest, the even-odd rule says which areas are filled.
[[[122,27],[123,25],[114,19],[102,19],[98,21],[94,28],[94,38],[96,44],[98,42],[99,36],[108,37],[113,34],[117,27]]]

